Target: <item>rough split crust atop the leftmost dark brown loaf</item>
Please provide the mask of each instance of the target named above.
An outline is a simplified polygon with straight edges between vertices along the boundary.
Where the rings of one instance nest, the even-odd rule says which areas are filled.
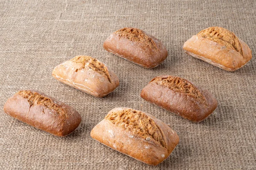
[[[47,96],[43,96],[35,91],[29,90],[19,91],[17,92],[17,94],[22,96],[24,99],[27,99],[30,107],[32,105],[43,105],[49,109],[56,111],[56,113],[58,113],[59,115],[67,116],[62,108],[59,107],[55,102],[52,101],[52,99],[48,98]]]

